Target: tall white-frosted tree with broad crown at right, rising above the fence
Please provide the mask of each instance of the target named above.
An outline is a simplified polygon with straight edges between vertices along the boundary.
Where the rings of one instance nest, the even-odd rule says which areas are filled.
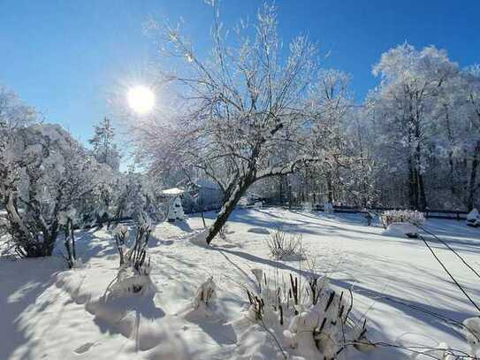
[[[380,86],[370,95],[389,167],[408,183],[409,204],[427,207],[425,172],[430,157],[434,110],[438,96],[457,65],[446,51],[430,46],[415,50],[408,43],[385,52],[373,73]]]

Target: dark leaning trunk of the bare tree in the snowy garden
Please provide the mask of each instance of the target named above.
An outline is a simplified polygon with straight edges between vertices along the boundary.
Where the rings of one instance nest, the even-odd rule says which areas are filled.
[[[215,222],[210,227],[209,234],[207,235],[207,244],[213,240],[215,236],[220,232],[220,229],[225,225],[226,220],[232,214],[232,211],[239,203],[241,196],[245,194],[247,189],[255,182],[255,172],[251,170],[248,174],[237,182],[237,185],[232,188],[230,191],[230,196],[228,199],[225,199],[224,205],[220,212],[218,212],[218,216],[215,219]]]

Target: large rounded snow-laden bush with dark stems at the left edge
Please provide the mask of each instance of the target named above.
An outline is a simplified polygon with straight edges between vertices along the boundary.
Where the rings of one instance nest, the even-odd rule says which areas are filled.
[[[49,256],[61,212],[79,210],[95,182],[97,164],[61,126],[17,129],[0,156],[0,201],[20,257]]]

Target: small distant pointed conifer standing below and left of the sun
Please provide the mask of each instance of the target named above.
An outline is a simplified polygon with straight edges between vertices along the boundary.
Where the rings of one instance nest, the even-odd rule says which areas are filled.
[[[98,163],[109,165],[113,170],[118,171],[120,154],[115,143],[114,130],[110,119],[104,117],[99,124],[95,125],[95,134],[88,142],[94,148],[93,154]]]

